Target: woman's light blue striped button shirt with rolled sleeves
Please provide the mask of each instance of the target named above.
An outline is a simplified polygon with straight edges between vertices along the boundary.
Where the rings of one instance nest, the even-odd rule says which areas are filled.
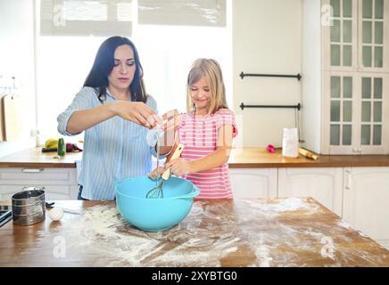
[[[107,92],[108,93],[108,92]],[[114,102],[107,94],[105,102]],[[157,103],[148,95],[146,104],[157,112]],[[83,87],[70,106],[57,118],[58,132],[66,131],[71,114],[100,106],[92,87]],[[151,171],[153,147],[146,143],[148,129],[115,116],[88,128],[84,135],[79,184],[85,199],[114,199],[113,182],[118,179],[146,175]],[[161,156],[162,158],[162,156]]]

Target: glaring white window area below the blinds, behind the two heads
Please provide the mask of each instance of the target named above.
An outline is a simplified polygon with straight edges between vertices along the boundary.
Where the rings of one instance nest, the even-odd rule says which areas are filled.
[[[226,3],[228,13],[231,2],[228,0]],[[137,20],[134,21],[130,38],[137,45],[144,68],[146,92],[158,102],[160,114],[172,109],[186,111],[186,77],[195,59],[216,59],[223,75],[228,79],[231,77],[230,21],[229,17],[227,28],[139,25]],[[56,118],[79,92],[103,40],[105,37],[37,36],[39,144],[50,137],[60,136]],[[232,106],[232,80],[226,80],[226,87],[228,103]],[[46,102],[52,103],[47,107]],[[64,139],[66,142],[78,142],[83,135],[66,136]]]

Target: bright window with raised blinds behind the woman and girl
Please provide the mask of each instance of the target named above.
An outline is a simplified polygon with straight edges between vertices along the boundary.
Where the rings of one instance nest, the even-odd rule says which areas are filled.
[[[44,2],[47,1],[41,0],[41,4]],[[177,10],[180,15],[177,19],[167,22],[166,17],[170,14],[166,15],[163,11],[169,12],[167,8],[178,2],[186,5]],[[65,3],[69,4],[67,8]],[[115,5],[109,6],[108,3]],[[71,5],[84,7],[84,4],[95,8],[70,9]],[[155,5],[155,9],[164,7],[161,8],[159,18],[150,16],[155,12],[149,9],[151,5]],[[40,17],[43,10],[37,6],[37,17]],[[72,28],[66,32],[63,29],[54,30],[54,34],[37,32],[37,128],[41,140],[45,142],[47,138],[59,135],[56,130],[58,114],[65,110],[82,87],[98,47],[106,37],[114,35],[129,37],[137,45],[145,71],[146,91],[157,100],[160,114],[171,109],[186,111],[186,76],[191,63],[200,57],[219,61],[223,69],[228,105],[232,108],[231,6],[231,0],[63,0],[62,13],[66,22],[78,21],[79,27],[85,23],[93,24],[96,19],[97,22],[103,22],[110,19],[109,11],[113,9],[116,16],[111,18],[114,19],[111,22],[105,22],[106,25],[130,20],[130,36],[116,31],[107,32],[107,28],[99,30],[98,25],[91,29],[79,28],[83,32],[78,34],[71,34]],[[151,14],[146,12],[145,7]],[[129,18],[128,13],[131,13]],[[186,14],[191,17],[185,17]],[[186,18],[191,19],[190,22]],[[38,22],[45,24],[42,20]],[[77,141],[80,138],[78,136],[68,140]]]

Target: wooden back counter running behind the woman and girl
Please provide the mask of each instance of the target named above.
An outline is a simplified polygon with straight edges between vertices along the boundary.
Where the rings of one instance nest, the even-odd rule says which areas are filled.
[[[56,152],[42,153],[33,148],[0,158],[0,167],[76,167],[82,152],[67,152],[63,159],[54,159]],[[258,167],[389,167],[389,155],[320,155],[318,160],[299,156],[284,158],[282,151],[269,153],[262,148],[244,148],[232,151],[228,165],[231,168]]]

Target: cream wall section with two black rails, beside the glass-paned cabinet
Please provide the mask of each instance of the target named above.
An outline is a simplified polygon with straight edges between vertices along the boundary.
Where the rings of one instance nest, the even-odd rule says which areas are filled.
[[[302,83],[276,77],[242,80],[242,71],[302,72],[302,0],[233,1],[234,110],[237,117],[242,116],[243,144],[281,146],[282,129],[295,126],[293,109],[241,110],[239,105],[296,105],[302,100]]]

